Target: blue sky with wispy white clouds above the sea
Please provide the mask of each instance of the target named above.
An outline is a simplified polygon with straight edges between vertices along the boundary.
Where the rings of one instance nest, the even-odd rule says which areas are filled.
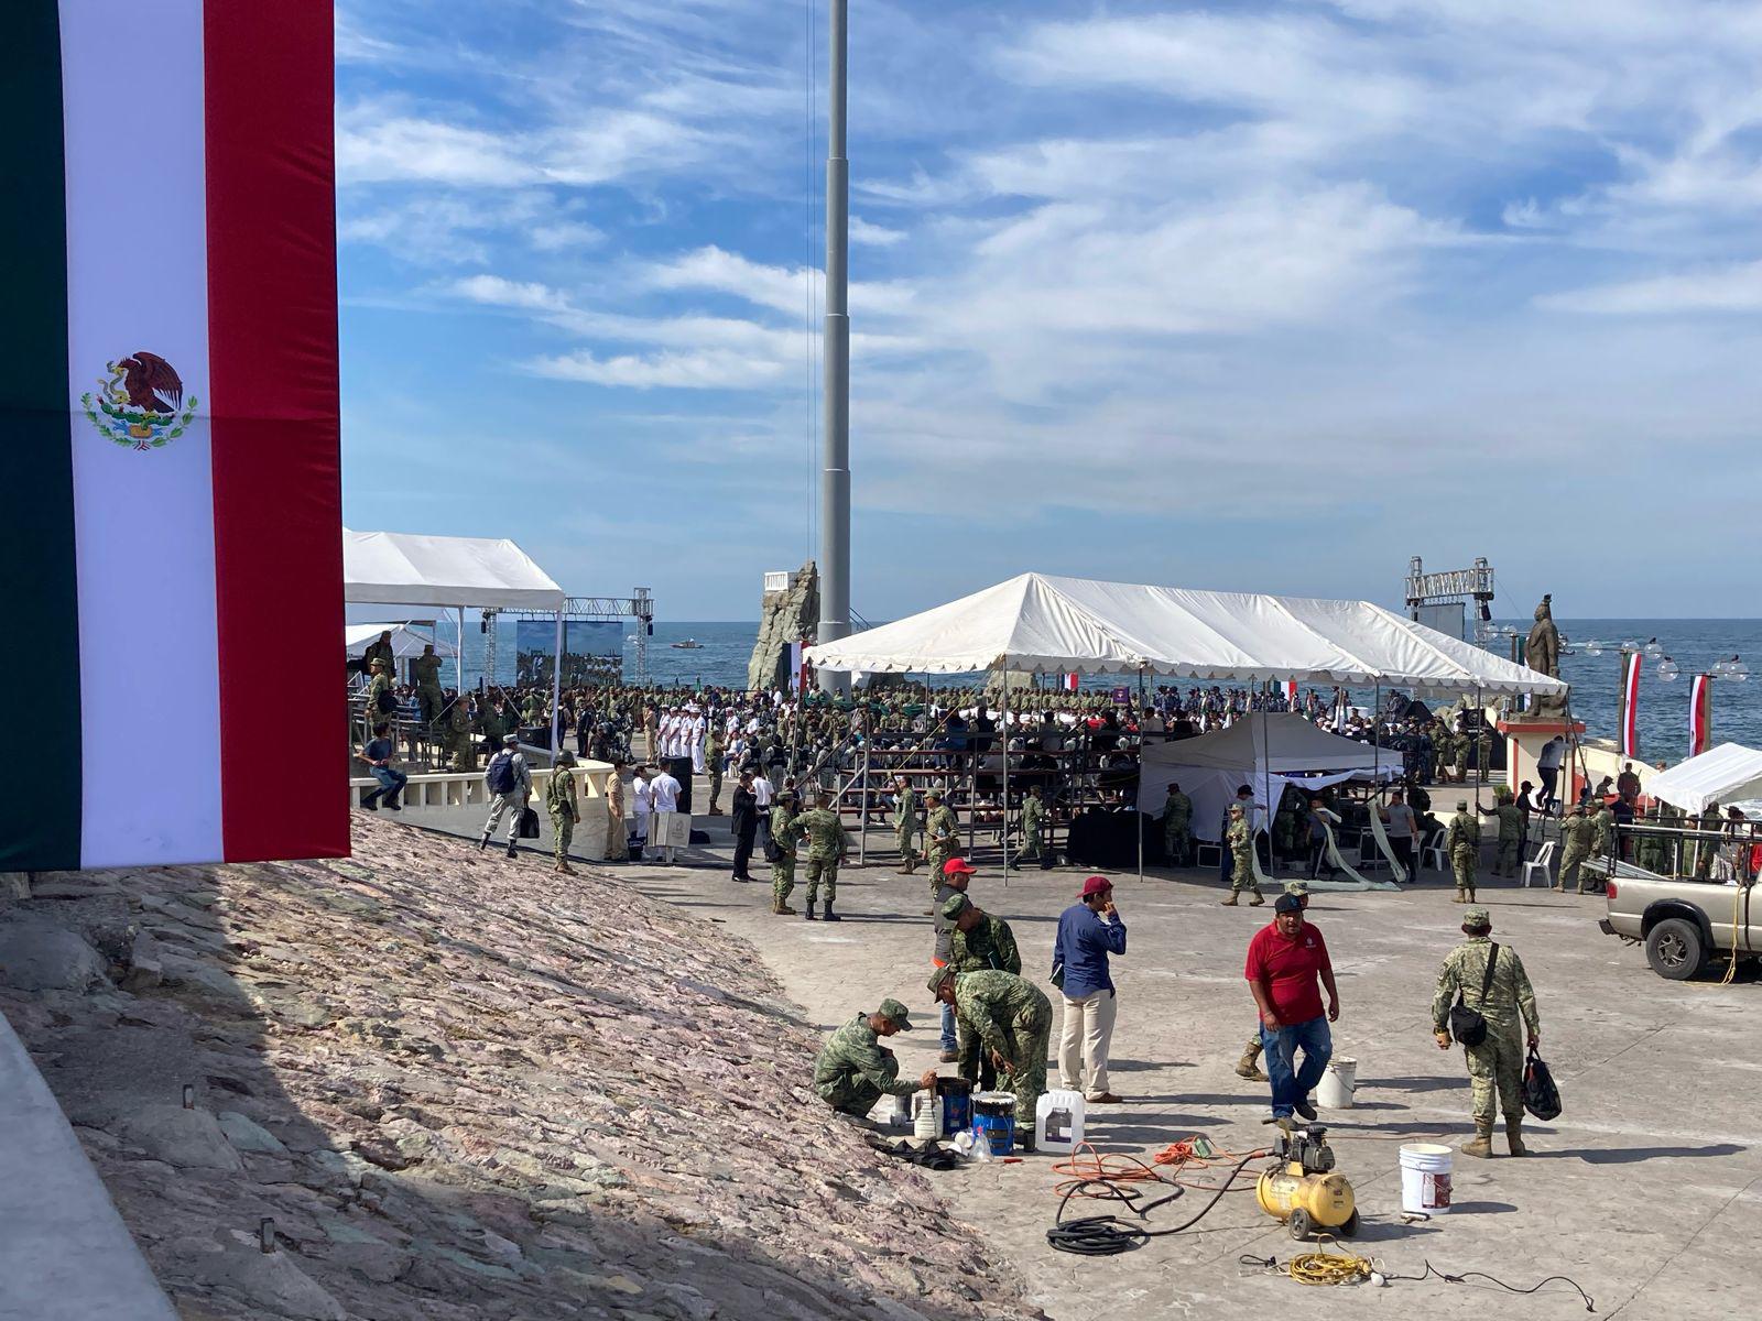
[[[1758,613],[1762,7],[851,9],[869,618],[1024,569],[1394,602],[1415,553]],[[338,2],[351,527],[756,615],[814,544],[823,23]]]

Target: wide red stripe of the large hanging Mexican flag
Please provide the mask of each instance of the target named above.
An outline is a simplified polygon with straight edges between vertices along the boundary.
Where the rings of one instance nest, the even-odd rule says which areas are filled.
[[[317,0],[203,11],[222,821],[238,861],[349,852],[331,23]],[[257,784],[266,759],[275,793]]]

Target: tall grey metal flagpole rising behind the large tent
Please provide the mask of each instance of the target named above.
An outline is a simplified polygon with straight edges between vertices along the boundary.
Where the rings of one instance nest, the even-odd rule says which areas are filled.
[[[844,157],[844,83],[849,0],[828,0],[832,55],[826,77],[826,349],[819,474],[819,632],[832,643],[851,632],[851,162]],[[846,696],[851,676],[819,671],[819,690]]]

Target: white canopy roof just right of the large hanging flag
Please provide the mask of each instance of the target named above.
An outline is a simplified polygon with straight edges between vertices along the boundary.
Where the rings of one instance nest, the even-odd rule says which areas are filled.
[[[342,558],[351,604],[564,606],[564,590],[511,541],[344,528]]]

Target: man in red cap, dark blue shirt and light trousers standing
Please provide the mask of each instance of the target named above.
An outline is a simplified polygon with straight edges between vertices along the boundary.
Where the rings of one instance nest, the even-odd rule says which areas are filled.
[[[1052,944],[1052,985],[1064,997],[1059,1030],[1059,1087],[1082,1092],[1091,1104],[1117,1104],[1107,1081],[1119,1000],[1108,976],[1108,955],[1126,953],[1126,923],[1114,907],[1114,882],[1084,881],[1082,895],[1059,914]]]

